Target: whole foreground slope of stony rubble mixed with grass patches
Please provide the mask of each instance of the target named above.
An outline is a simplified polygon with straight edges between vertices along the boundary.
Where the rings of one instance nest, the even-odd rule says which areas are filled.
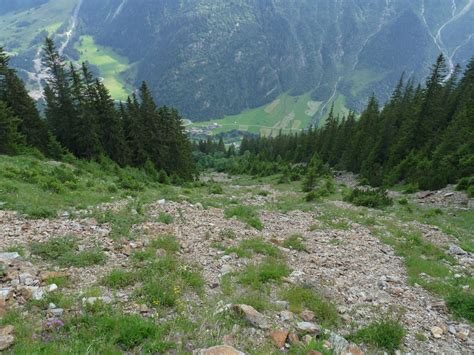
[[[403,352],[474,352],[471,324],[443,300],[443,288],[473,287],[473,210],[465,196],[438,194],[465,200],[439,209],[422,207],[420,194],[394,193],[408,203],[380,211],[341,200],[350,179],[316,203],[300,202],[296,183],[213,181],[222,193],[176,188],[170,200],[129,198],[51,219],[0,211],[1,322],[14,327],[11,335],[2,328],[0,346],[12,343],[15,353],[192,353],[222,344],[253,354],[373,353],[384,343],[365,338],[348,347],[336,334],[359,342],[357,330],[393,319],[406,330]],[[235,304],[260,314],[242,317]],[[303,329],[304,320],[318,329]]]

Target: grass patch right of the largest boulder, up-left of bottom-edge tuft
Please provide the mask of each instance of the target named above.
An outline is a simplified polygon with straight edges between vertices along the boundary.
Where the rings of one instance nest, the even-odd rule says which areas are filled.
[[[336,306],[309,286],[293,286],[283,291],[283,298],[290,303],[290,310],[300,313],[305,309],[314,312],[318,322],[325,327],[339,324]]]

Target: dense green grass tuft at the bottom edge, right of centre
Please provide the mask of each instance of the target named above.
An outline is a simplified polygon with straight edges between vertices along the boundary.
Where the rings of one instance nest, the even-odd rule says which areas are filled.
[[[406,330],[398,320],[385,317],[358,330],[349,338],[394,353],[400,348],[405,335]]]

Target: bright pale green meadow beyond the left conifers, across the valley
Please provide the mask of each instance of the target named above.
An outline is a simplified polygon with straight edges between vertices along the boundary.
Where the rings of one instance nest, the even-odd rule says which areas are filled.
[[[127,58],[96,44],[92,36],[81,36],[74,48],[79,52],[80,62],[89,62],[99,68],[100,76],[114,99],[127,99],[130,90],[122,78],[123,72],[130,68]]]

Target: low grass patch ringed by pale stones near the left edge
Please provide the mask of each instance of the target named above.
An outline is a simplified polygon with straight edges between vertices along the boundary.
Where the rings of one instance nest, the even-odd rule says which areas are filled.
[[[88,267],[102,265],[106,261],[104,252],[99,249],[78,251],[77,239],[73,236],[34,242],[30,245],[30,250],[33,255],[62,267]]]

